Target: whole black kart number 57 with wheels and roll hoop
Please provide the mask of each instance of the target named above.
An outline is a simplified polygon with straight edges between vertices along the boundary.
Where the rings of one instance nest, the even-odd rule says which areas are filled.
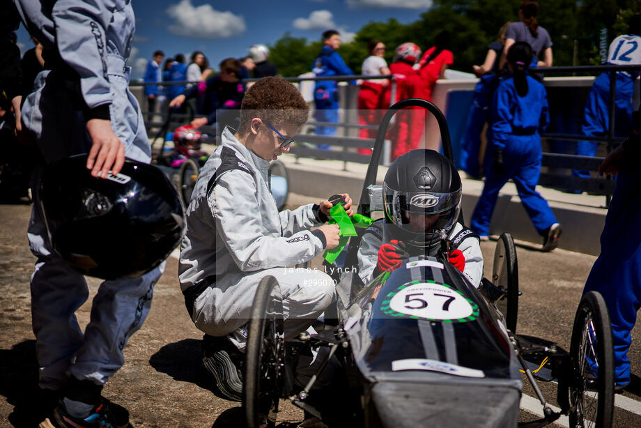
[[[378,130],[358,213],[382,208],[376,169],[387,124],[399,109],[419,106],[435,115],[444,153],[452,159],[449,131],[438,107],[425,100],[392,106]],[[325,313],[317,334],[284,341],[284,312],[277,280],[258,286],[243,365],[248,427],[274,426],[279,399],[289,399],[329,425],[364,427],[516,427],[522,372],[543,407],[543,418],[521,426],[542,427],[568,415],[571,427],[610,427],[614,374],[610,317],[600,294],[580,301],[570,351],[543,339],[516,334],[518,261],[509,234],[497,240],[491,279],[474,289],[447,257],[409,257],[369,284],[357,275],[359,236],[334,261],[335,319]],[[325,349],[325,360],[304,386],[295,386],[295,356]],[[345,388],[330,411],[315,406],[314,383],[338,361]],[[546,402],[531,367],[558,382],[559,411]],[[343,389],[345,389],[343,388]],[[337,420],[339,415],[339,420]]]

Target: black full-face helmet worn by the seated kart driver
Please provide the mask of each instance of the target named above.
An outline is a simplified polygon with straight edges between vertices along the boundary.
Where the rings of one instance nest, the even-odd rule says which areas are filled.
[[[433,255],[461,211],[461,177],[440,153],[409,151],[394,160],[385,174],[383,206],[393,238],[413,247],[410,254]]]

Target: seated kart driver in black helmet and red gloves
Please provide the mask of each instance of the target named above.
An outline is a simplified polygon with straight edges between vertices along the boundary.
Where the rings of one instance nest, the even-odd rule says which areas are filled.
[[[479,236],[459,223],[461,178],[433,150],[412,150],[394,160],[383,181],[385,218],[365,231],[358,249],[364,283],[399,261],[447,254],[449,262],[478,288],[483,277]]]

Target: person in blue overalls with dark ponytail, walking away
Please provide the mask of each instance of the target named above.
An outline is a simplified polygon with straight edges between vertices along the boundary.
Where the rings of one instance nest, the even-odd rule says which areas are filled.
[[[539,129],[550,122],[548,98],[543,84],[527,73],[532,47],[516,42],[508,52],[512,77],[503,80],[492,104],[491,165],[486,162],[486,181],[470,227],[487,238],[490,219],[499,191],[509,179],[516,184],[525,211],[536,231],[543,236],[542,251],[558,245],[561,225],[548,205],[536,192],[541,174],[541,137]]]

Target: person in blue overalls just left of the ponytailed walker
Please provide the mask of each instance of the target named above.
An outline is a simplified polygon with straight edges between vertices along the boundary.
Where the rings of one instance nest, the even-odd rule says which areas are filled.
[[[468,124],[461,139],[461,167],[472,178],[481,178],[482,175],[479,162],[481,132],[485,124],[490,121],[492,98],[501,75],[499,61],[505,43],[505,31],[509,24],[509,22],[503,24],[497,39],[488,46],[484,63],[481,66],[473,66],[474,75],[479,77],[479,82],[474,86]]]

